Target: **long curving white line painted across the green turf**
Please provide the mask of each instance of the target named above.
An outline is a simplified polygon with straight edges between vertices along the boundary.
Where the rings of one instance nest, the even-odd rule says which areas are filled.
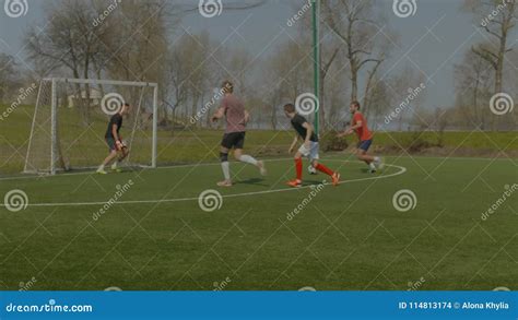
[[[338,161],[338,159],[328,159],[328,161]],[[358,182],[358,181],[367,181],[367,180],[375,180],[375,179],[385,179],[390,177],[396,177],[402,175],[407,171],[405,167],[389,165],[386,164],[386,167],[393,167],[398,168],[397,173],[385,175],[385,176],[373,176],[368,178],[358,178],[358,179],[351,179],[341,181],[340,185],[343,183],[351,183],[351,182]],[[325,183],[326,186],[331,183]],[[275,192],[285,192],[285,191],[294,191],[301,189],[311,188],[314,185],[308,185],[299,188],[282,188],[282,189],[274,189],[274,190],[264,190],[264,191],[255,191],[255,192],[245,192],[245,193],[234,193],[234,194],[224,194],[222,198],[238,198],[238,197],[247,197],[247,195],[258,195],[258,194],[268,194],[268,193],[275,193]],[[181,201],[198,201],[199,197],[192,198],[177,198],[177,199],[162,199],[162,200],[128,200],[128,201],[117,201],[114,204],[139,204],[139,203],[168,203],[168,202],[181,202]],[[61,203],[28,203],[27,206],[85,206],[85,205],[104,205],[106,201],[93,201],[93,202],[61,202]],[[0,203],[0,206],[5,206],[5,204]]]

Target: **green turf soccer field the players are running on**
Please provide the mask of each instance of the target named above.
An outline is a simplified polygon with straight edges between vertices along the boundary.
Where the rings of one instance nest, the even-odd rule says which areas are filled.
[[[4,178],[0,194],[23,192],[0,206],[0,287],[518,287],[515,158],[386,162],[373,175],[333,154],[322,163],[343,182],[306,174],[298,189],[289,158],[267,177],[232,163],[228,189],[219,164]]]

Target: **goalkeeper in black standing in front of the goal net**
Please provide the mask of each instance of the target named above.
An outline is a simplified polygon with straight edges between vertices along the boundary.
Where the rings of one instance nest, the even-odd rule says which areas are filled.
[[[105,134],[105,140],[109,147],[109,154],[98,167],[97,174],[106,175],[107,173],[104,168],[114,159],[115,162],[111,164],[111,170],[120,173],[118,164],[128,156],[129,149],[122,142],[122,137],[119,131],[122,127],[122,117],[128,114],[129,108],[129,104],[123,104],[120,110],[109,119],[108,129]]]

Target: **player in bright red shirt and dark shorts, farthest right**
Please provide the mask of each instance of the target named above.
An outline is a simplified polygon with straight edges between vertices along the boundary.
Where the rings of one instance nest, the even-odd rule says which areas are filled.
[[[372,156],[367,154],[370,144],[373,144],[373,133],[368,130],[367,120],[360,112],[360,103],[352,102],[350,106],[351,114],[353,115],[353,120],[351,121],[351,127],[342,133],[339,133],[338,137],[344,137],[356,133],[358,137],[358,144],[356,149],[356,156],[360,161],[365,162],[370,173],[376,173],[377,169],[381,169],[384,164],[379,156]]]

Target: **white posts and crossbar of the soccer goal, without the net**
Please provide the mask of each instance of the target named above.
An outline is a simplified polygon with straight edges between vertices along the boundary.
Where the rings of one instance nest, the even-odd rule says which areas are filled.
[[[134,87],[152,87],[153,88],[153,137],[152,137],[152,149],[151,149],[151,167],[156,168],[156,156],[157,156],[157,122],[158,122],[158,84],[154,82],[133,82],[133,81],[118,81],[118,80],[95,80],[95,79],[69,79],[69,78],[45,78],[42,79],[38,95],[36,98],[36,105],[34,109],[33,123],[31,126],[31,137],[27,145],[27,153],[25,156],[24,173],[34,173],[28,168],[28,157],[31,152],[31,144],[33,140],[33,134],[37,126],[36,115],[38,112],[37,108],[39,107],[39,99],[42,94],[42,87],[44,82],[51,82],[51,142],[50,142],[50,175],[56,175],[57,168],[56,163],[58,161],[58,97],[57,97],[57,84],[58,83],[76,83],[76,84],[90,84],[90,85],[127,85]]]

